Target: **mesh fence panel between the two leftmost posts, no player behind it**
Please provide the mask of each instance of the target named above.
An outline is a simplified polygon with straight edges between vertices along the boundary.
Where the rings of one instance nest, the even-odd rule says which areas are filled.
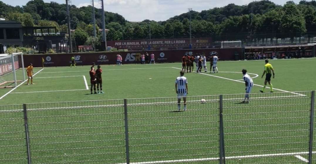
[[[123,100],[27,104],[33,164],[125,162]]]

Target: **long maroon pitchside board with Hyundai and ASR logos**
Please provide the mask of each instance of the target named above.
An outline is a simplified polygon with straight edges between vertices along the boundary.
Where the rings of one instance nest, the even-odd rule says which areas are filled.
[[[190,50],[155,50],[147,51],[150,55],[154,53],[155,61],[161,62],[181,62],[181,57],[185,54],[217,54],[220,60],[234,60],[235,54],[241,56],[241,48],[226,49],[190,49]],[[141,63],[140,55],[145,51],[119,52],[122,56],[123,64]],[[100,65],[115,64],[117,52],[96,52],[96,53],[74,53],[74,54],[47,54],[47,55],[24,55],[24,64],[33,63],[34,67],[42,66],[42,57],[44,58],[44,67],[70,66],[71,56],[75,56],[77,65],[91,65],[92,62]]]

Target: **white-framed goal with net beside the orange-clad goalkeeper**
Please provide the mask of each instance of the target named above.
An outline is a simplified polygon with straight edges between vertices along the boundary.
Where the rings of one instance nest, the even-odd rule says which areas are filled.
[[[0,55],[0,88],[16,87],[25,81],[23,54]]]

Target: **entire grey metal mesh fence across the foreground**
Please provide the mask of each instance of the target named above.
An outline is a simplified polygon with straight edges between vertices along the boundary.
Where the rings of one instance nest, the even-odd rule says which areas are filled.
[[[0,106],[1,163],[313,163],[315,91]],[[205,99],[206,102],[201,102]]]

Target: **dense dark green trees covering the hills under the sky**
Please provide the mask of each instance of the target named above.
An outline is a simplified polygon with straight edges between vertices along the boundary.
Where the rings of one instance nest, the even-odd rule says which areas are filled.
[[[93,38],[92,7],[70,5],[71,28],[77,45],[100,40],[102,15],[94,8],[97,38]],[[25,6],[9,6],[0,1],[0,15],[17,20],[23,26],[57,26],[67,32],[66,4],[29,1]],[[288,1],[283,6],[268,0],[247,5],[228,4],[221,8],[190,11],[165,21],[143,20],[129,22],[122,15],[105,12],[107,40],[189,37],[191,17],[192,37],[212,37],[217,40],[254,40],[265,38],[294,38],[316,32],[316,1]],[[92,38],[91,38],[92,37]]]

